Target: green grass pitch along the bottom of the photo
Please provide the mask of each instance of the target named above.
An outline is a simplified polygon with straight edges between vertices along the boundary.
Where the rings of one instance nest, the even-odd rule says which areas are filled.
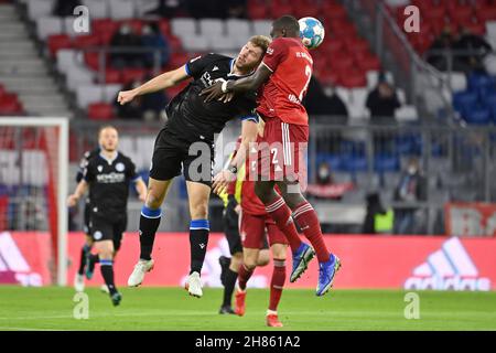
[[[201,299],[180,288],[121,289],[112,307],[97,288],[87,290],[89,318],[73,317],[72,288],[0,286],[0,330],[272,330],[265,327],[269,291],[250,289],[245,317],[217,313],[222,290]],[[496,330],[496,292],[419,291],[420,319],[405,318],[405,291],[285,290],[279,308],[283,330]]]

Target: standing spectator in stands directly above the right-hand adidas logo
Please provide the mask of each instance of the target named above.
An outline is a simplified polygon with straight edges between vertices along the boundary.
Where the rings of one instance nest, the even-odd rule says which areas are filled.
[[[427,179],[422,175],[419,160],[411,158],[395,190],[395,201],[407,207],[395,207],[395,234],[414,234],[414,216],[419,210],[414,203],[427,201]],[[409,206],[408,204],[412,204]]]

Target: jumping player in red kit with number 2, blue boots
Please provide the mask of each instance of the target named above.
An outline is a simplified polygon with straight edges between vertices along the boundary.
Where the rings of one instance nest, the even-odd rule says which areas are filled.
[[[323,296],[332,287],[341,261],[327,250],[316,213],[300,189],[306,179],[302,154],[309,140],[309,117],[301,101],[312,77],[313,60],[300,40],[295,18],[277,19],[270,35],[273,41],[255,74],[236,82],[218,82],[201,95],[206,101],[226,99],[244,92],[257,92],[265,84],[257,111],[266,122],[262,138],[266,143],[259,147],[261,178],[256,181],[255,191],[290,243],[293,253],[290,281],[303,274],[314,256],[312,247],[298,235],[291,218],[293,212],[294,221],[315,249],[320,267],[316,295]],[[246,153],[240,150],[228,169],[215,176],[214,190],[226,186],[234,178],[233,172],[244,163]],[[274,191],[276,185],[282,197]]]

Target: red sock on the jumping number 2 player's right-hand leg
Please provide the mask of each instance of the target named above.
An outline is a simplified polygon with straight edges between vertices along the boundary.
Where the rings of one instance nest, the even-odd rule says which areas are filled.
[[[330,253],[325,246],[321,224],[319,223],[319,218],[312,205],[306,201],[298,205],[293,212],[293,218],[312,244],[319,263],[328,261]]]

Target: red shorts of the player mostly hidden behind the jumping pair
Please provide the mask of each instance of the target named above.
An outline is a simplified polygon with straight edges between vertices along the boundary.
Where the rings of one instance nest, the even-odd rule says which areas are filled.
[[[250,249],[262,248],[266,229],[269,245],[288,244],[284,234],[269,215],[257,216],[241,212],[239,218],[239,234],[241,235],[242,247]]]

